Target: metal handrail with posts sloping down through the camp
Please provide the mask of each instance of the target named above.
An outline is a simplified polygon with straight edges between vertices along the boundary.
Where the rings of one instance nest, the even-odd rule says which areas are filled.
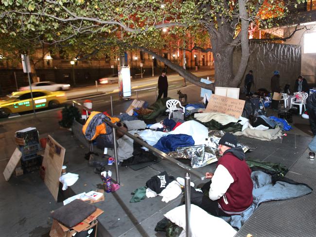
[[[75,104],[80,106],[80,107],[82,107],[84,110],[86,110],[87,117],[88,117],[88,112],[91,112],[91,111],[87,107],[85,107],[83,104],[81,104],[79,102],[76,102],[76,101],[72,101],[72,105],[75,106]],[[113,116],[112,97],[111,97],[111,112],[112,112],[112,116]],[[161,152],[157,148],[154,148],[154,147],[150,146],[145,141],[143,141],[140,138],[138,138],[138,137],[136,137],[134,135],[131,135],[130,133],[124,131],[122,128],[120,128],[119,126],[115,125],[114,123],[111,123],[108,120],[104,120],[104,122],[108,126],[113,128],[114,159],[115,159],[116,181],[117,181],[118,184],[120,184],[120,175],[119,175],[119,166],[118,166],[118,161],[119,160],[118,160],[118,154],[117,154],[117,148],[118,147],[117,147],[117,142],[116,142],[116,130],[119,130],[124,135],[127,135],[128,137],[130,137],[131,139],[133,139],[134,141],[136,141],[140,145],[146,147],[149,151],[153,152],[159,158],[168,160],[168,161],[176,164],[181,169],[186,171],[185,178],[184,178],[184,181],[185,181],[184,198],[185,198],[185,210],[186,210],[186,236],[187,237],[191,237],[191,227],[190,227],[190,213],[191,213],[191,190],[190,190],[191,186],[190,186],[190,183],[191,183],[191,174],[197,176],[201,180],[205,179],[205,175],[203,173],[197,171],[197,170],[194,170],[192,167],[189,167],[189,166],[183,164],[182,162],[179,162],[175,158],[170,157],[166,153]],[[92,149],[92,143],[91,142],[89,142],[89,149]]]

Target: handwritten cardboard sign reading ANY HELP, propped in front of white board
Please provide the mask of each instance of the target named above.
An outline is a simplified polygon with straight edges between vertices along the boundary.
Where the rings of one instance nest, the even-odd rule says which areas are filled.
[[[238,119],[243,113],[244,105],[245,101],[243,100],[236,100],[225,96],[211,95],[208,106],[204,112],[227,114]]]

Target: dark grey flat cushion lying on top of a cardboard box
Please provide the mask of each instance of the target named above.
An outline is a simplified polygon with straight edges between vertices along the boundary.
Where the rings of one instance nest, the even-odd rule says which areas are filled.
[[[97,208],[80,199],[76,199],[65,206],[55,210],[51,216],[53,219],[58,220],[67,227],[73,227],[85,220]]]

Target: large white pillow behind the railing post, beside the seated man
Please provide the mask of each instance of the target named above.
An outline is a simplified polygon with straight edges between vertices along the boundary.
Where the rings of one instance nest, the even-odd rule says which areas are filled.
[[[177,206],[164,216],[185,230],[185,205]],[[225,220],[191,204],[191,233],[192,237],[233,237],[237,231]]]

